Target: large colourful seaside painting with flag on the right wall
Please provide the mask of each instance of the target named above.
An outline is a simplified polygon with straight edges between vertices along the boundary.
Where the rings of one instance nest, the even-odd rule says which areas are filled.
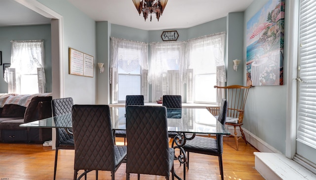
[[[269,0],[247,22],[247,85],[283,85],[285,0]]]

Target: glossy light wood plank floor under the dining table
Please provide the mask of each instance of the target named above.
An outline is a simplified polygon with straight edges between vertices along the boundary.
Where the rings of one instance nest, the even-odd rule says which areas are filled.
[[[122,139],[117,140],[118,143]],[[239,141],[239,151],[235,149],[233,138],[224,138],[224,179],[264,180],[254,169],[254,155],[257,152],[250,144]],[[72,180],[74,177],[74,150],[59,150],[57,180]],[[42,144],[0,143],[0,180],[52,180],[55,150]],[[183,178],[183,166],[175,162],[177,174]],[[187,180],[220,180],[218,157],[190,153],[190,169]],[[116,180],[125,180],[125,164],[121,164],[115,174]],[[88,174],[88,180],[95,180],[95,173]],[[111,173],[99,171],[99,180],[111,180]],[[137,180],[137,175],[131,175]],[[163,177],[141,175],[141,180],[165,180]],[[171,178],[170,178],[171,180]]]

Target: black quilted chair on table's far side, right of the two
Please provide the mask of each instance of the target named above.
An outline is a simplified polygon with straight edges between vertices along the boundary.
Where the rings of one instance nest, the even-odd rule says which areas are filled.
[[[162,106],[166,108],[182,108],[182,100],[180,95],[163,95],[162,96]],[[170,118],[169,114],[168,118]],[[178,133],[169,132],[168,137],[174,138]]]

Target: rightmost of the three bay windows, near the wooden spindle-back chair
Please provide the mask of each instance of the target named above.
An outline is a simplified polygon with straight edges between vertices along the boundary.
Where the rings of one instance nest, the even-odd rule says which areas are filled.
[[[214,85],[224,85],[226,81],[224,45],[224,33],[188,41],[188,69],[193,69],[190,91],[194,103],[217,103]]]

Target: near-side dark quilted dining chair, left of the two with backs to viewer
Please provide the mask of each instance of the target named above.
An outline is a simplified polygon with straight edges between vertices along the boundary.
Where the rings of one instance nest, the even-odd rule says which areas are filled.
[[[125,145],[116,145],[112,132],[110,107],[108,105],[74,105],[72,122],[75,140],[74,180],[79,170],[84,172],[78,180],[91,171],[115,172],[127,154]]]

